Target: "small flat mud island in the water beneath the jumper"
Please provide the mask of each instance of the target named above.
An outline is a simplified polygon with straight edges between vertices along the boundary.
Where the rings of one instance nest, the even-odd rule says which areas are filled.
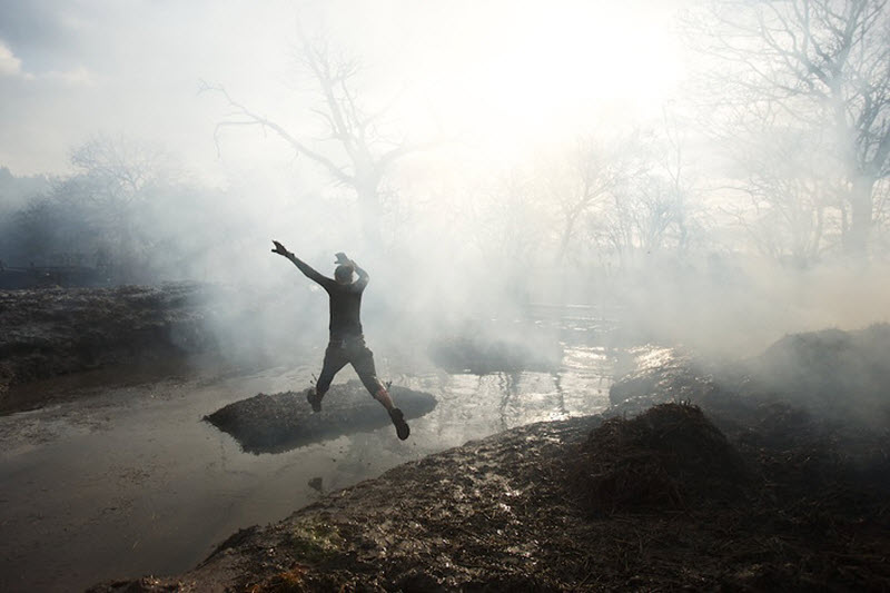
[[[389,393],[407,419],[428,414],[436,399],[428,393],[392,386]],[[358,380],[332,385],[322,412],[314,414],[306,392],[258,394],[205,416],[230,434],[248,453],[280,453],[309,443],[388,426],[389,416]]]

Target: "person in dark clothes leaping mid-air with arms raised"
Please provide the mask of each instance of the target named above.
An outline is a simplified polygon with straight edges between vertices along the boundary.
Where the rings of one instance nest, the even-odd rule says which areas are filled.
[[[362,334],[362,293],[368,285],[368,273],[347,258],[346,254],[339,253],[336,254],[338,265],[334,270],[334,278],[327,278],[288,251],[280,243],[275,240],[271,243],[275,245],[271,253],[293,261],[306,277],[318,283],[329,297],[330,340],[325,350],[325,363],[322,366],[318,383],[315,388],[309,387],[306,394],[313,412],[322,411],[322,398],[330,387],[334,375],[346,366],[346,363],[349,363],[368,393],[389,413],[389,418],[396,427],[396,434],[402,441],[405,441],[411,434],[408,423],[405,422],[402,411],[393,405],[389,392],[377,378],[377,372],[374,368],[374,353],[365,345],[365,336]],[[354,271],[358,274],[358,279],[355,281],[353,281]]]

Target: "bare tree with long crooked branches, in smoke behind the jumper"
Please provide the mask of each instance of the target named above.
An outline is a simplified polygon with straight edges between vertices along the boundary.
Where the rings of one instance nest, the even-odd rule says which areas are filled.
[[[233,108],[226,119],[217,123],[217,146],[224,128],[256,126],[271,130],[297,155],[324,168],[335,182],[355,191],[365,237],[379,245],[384,178],[398,159],[435,142],[412,145],[385,134],[383,120],[392,103],[377,112],[365,109],[355,88],[360,71],[358,62],[336,57],[325,37],[309,39],[298,30],[298,41],[303,66],[322,96],[322,107],[312,109],[327,130],[326,136],[318,140],[330,151],[312,148],[305,136],[291,134],[275,120],[238,102],[224,87],[202,82],[202,91],[220,93]]]

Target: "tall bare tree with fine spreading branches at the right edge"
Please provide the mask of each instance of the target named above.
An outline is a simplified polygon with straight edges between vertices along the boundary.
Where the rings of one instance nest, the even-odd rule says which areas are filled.
[[[735,117],[768,110],[832,132],[843,248],[864,254],[876,184],[890,175],[887,0],[715,0],[694,30]]]

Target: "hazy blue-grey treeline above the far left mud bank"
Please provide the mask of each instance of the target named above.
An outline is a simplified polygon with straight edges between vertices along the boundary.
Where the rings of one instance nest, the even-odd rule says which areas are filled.
[[[7,284],[195,277],[196,257],[210,248],[204,238],[219,192],[180,180],[165,158],[129,141],[97,139],[72,152],[68,176],[8,182],[0,220]]]

